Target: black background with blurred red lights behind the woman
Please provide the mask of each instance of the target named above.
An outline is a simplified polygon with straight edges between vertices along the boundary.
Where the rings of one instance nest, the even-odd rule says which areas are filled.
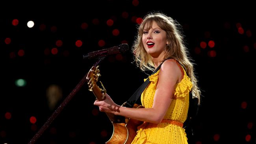
[[[83,59],[83,54],[124,41],[131,48],[138,26],[134,20],[143,18],[149,11],[163,12],[182,25],[186,46],[195,63],[202,100],[191,143],[256,143],[253,4],[141,0],[62,4],[2,5],[8,8],[0,18],[1,144],[28,143],[54,112],[48,107],[46,89],[52,84],[61,88],[62,99],[56,104],[57,108],[95,63],[95,60]],[[123,12],[128,13],[127,18],[122,17]],[[95,18],[98,24],[93,21]],[[12,25],[13,19],[19,20],[17,26]],[[112,26],[106,24],[109,19],[114,21]],[[33,28],[26,26],[29,20],[35,22]],[[83,22],[87,23],[87,29],[81,28]],[[45,24],[45,30],[39,29],[41,24]],[[243,33],[238,31],[241,28]],[[120,31],[119,35],[112,34],[114,29]],[[10,44],[5,43],[6,38],[11,39]],[[62,46],[56,46],[58,40],[63,42]],[[83,42],[81,47],[75,44],[78,40]],[[99,46],[100,40],[106,44]],[[213,48],[200,47],[200,42],[211,40],[215,42]],[[58,48],[58,53],[47,54],[52,48]],[[21,49],[23,56],[18,55]],[[211,57],[210,52],[216,52],[216,56]],[[120,105],[147,78],[132,62],[133,55],[129,51],[111,55],[100,64],[100,81]],[[26,86],[17,87],[17,79],[25,79]],[[98,107],[93,105],[94,101],[95,96],[85,83],[35,143],[106,142],[113,128],[106,114],[99,113]],[[6,113],[11,114],[10,119],[6,118]],[[37,119],[35,124],[30,122],[31,116]]]

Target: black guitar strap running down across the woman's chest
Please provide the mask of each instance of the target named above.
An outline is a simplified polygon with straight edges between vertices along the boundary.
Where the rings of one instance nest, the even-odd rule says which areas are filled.
[[[161,63],[156,70],[154,70],[154,72],[152,74],[155,74],[161,67],[163,63]],[[125,107],[134,107],[134,103],[137,103],[139,105],[141,105],[141,101],[139,100],[141,97],[142,92],[144,91],[144,89],[148,86],[149,84],[149,78],[142,83],[142,85],[134,92],[134,94],[129,98],[129,100],[126,102]]]

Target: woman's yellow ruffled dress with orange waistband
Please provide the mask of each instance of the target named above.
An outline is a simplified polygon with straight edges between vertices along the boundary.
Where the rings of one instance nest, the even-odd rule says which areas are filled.
[[[180,68],[184,76],[175,86],[173,100],[163,121],[160,124],[144,122],[138,127],[132,144],[187,144],[185,129],[182,126],[187,118],[189,91],[192,89],[192,83],[184,68],[182,66]],[[148,77],[150,83],[141,94],[141,103],[145,108],[153,105],[158,74],[159,70]]]

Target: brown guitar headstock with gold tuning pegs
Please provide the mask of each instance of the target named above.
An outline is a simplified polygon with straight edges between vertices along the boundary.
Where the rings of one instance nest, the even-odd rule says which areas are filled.
[[[99,101],[102,101],[105,99],[105,93],[106,93],[106,89],[104,88],[104,86],[102,85],[101,81],[101,85],[102,85],[102,88],[101,89],[100,87],[98,87],[97,85],[97,81],[98,81],[98,78],[101,76],[100,75],[100,70],[98,69],[99,66],[93,66],[88,74],[87,74],[87,82],[88,82],[88,86],[89,86],[89,90],[93,92],[93,94],[96,96],[96,98],[99,100]]]

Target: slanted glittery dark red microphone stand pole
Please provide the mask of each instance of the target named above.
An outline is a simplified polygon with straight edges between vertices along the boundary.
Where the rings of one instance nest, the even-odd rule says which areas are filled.
[[[99,65],[99,63],[104,59],[105,57],[100,57],[94,66],[96,67]],[[88,73],[87,73],[88,74]],[[59,105],[59,107],[52,113],[52,115],[48,118],[48,120],[45,122],[45,124],[37,131],[37,133],[34,135],[34,137],[28,142],[28,144],[34,144],[35,141],[41,137],[43,132],[50,126],[52,121],[58,116],[58,114],[64,109],[64,107],[69,103],[69,101],[73,98],[73,96],[80,90],[80,88],[83,86],[83,84],[87,81],[86,77],[87,74],[80,80],[80,82],[76,85],[76,87],[70,92],[70,94],[63,100],[63,102]]]

